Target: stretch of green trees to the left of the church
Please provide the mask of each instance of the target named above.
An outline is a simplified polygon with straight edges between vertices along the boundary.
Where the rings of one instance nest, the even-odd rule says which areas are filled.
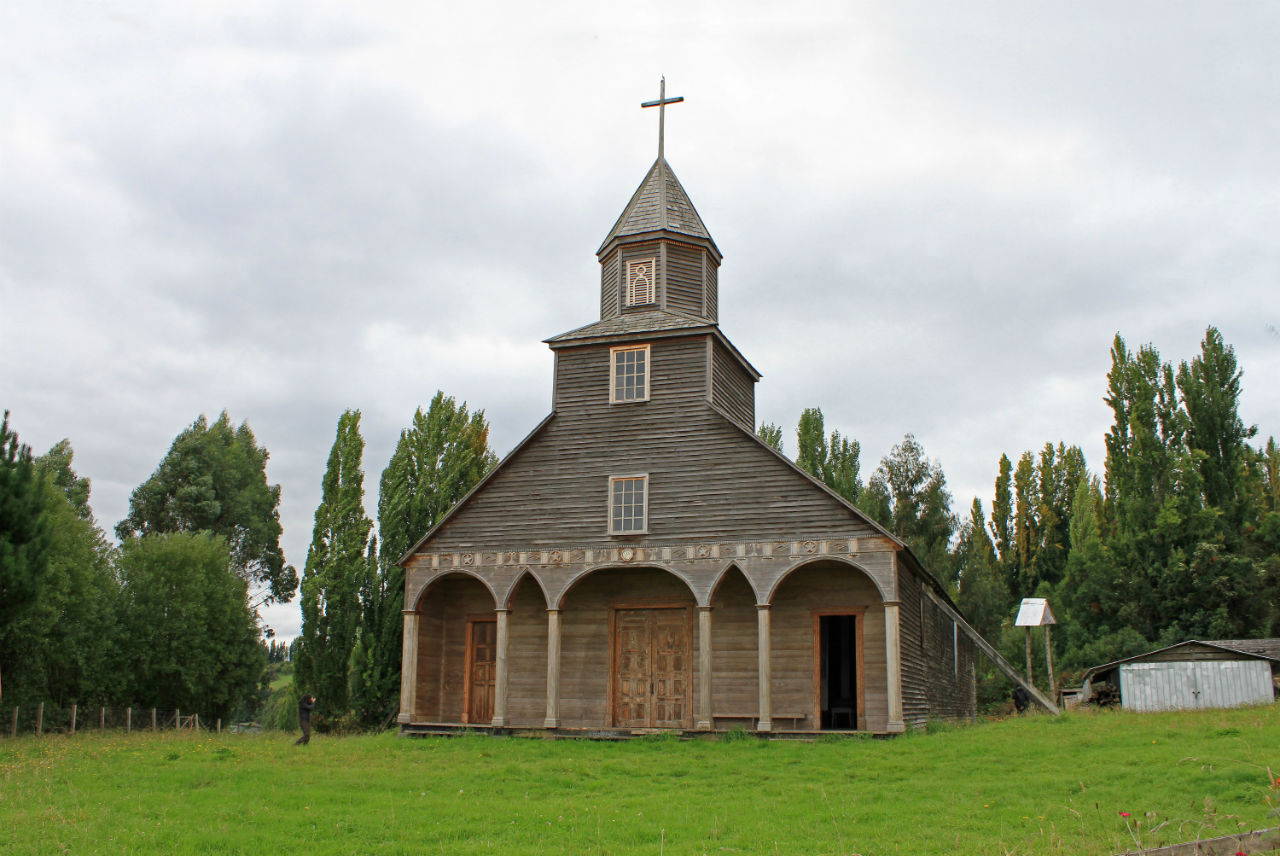
[[[376,725],[399,695],[397,559],[495,463],[484,413],[436,394],[383,471],[379,537],[364,511],[360,413],[348,411],[301,575],[302,636],[276,642],[257,610],[298,592],[280,549],[279,485],[247,424],[183,430],[132,493],[113,541],[61,440],[42,456],[0,435],[0,697],[6,705],[180,708],[250,719],[269,663],[292,660],[328,725]],[[276,705],[280,706],[280,705]]]

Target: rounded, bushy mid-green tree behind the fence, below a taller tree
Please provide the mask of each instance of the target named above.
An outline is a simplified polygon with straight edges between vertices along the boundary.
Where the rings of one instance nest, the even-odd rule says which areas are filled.
[[[120,548],[122,664],[136,704],[229,718],[265,656],[246,582],[211,532],[157,532]]]

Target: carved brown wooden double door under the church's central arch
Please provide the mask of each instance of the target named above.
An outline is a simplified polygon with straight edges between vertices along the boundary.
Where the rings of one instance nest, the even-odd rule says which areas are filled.
[[[687,606],[613,613],[613,724],[689,728],[692,699]]]

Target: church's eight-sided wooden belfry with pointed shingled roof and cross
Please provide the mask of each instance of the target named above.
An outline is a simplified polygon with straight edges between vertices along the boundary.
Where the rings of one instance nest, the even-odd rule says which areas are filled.
[[[664,311],[716,324],[719,248],[667,162],[666,79],[657,101],[658,160],[631,194],[596,251],[600,260],[600,320]]]

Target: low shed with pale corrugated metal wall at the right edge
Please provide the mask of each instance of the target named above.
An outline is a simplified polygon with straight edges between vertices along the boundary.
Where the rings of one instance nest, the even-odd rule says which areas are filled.
[[[1096,685],[1106,682],[1116,685],[1121,704],[1137,711],[1267,704],[1275,699],[1272,673],[1280,673],[1280,658],[1244,649],[1270,651],[1276,642],[1179,642],[1093,667],[1084,673],[1084,696],[1092,697]]]

